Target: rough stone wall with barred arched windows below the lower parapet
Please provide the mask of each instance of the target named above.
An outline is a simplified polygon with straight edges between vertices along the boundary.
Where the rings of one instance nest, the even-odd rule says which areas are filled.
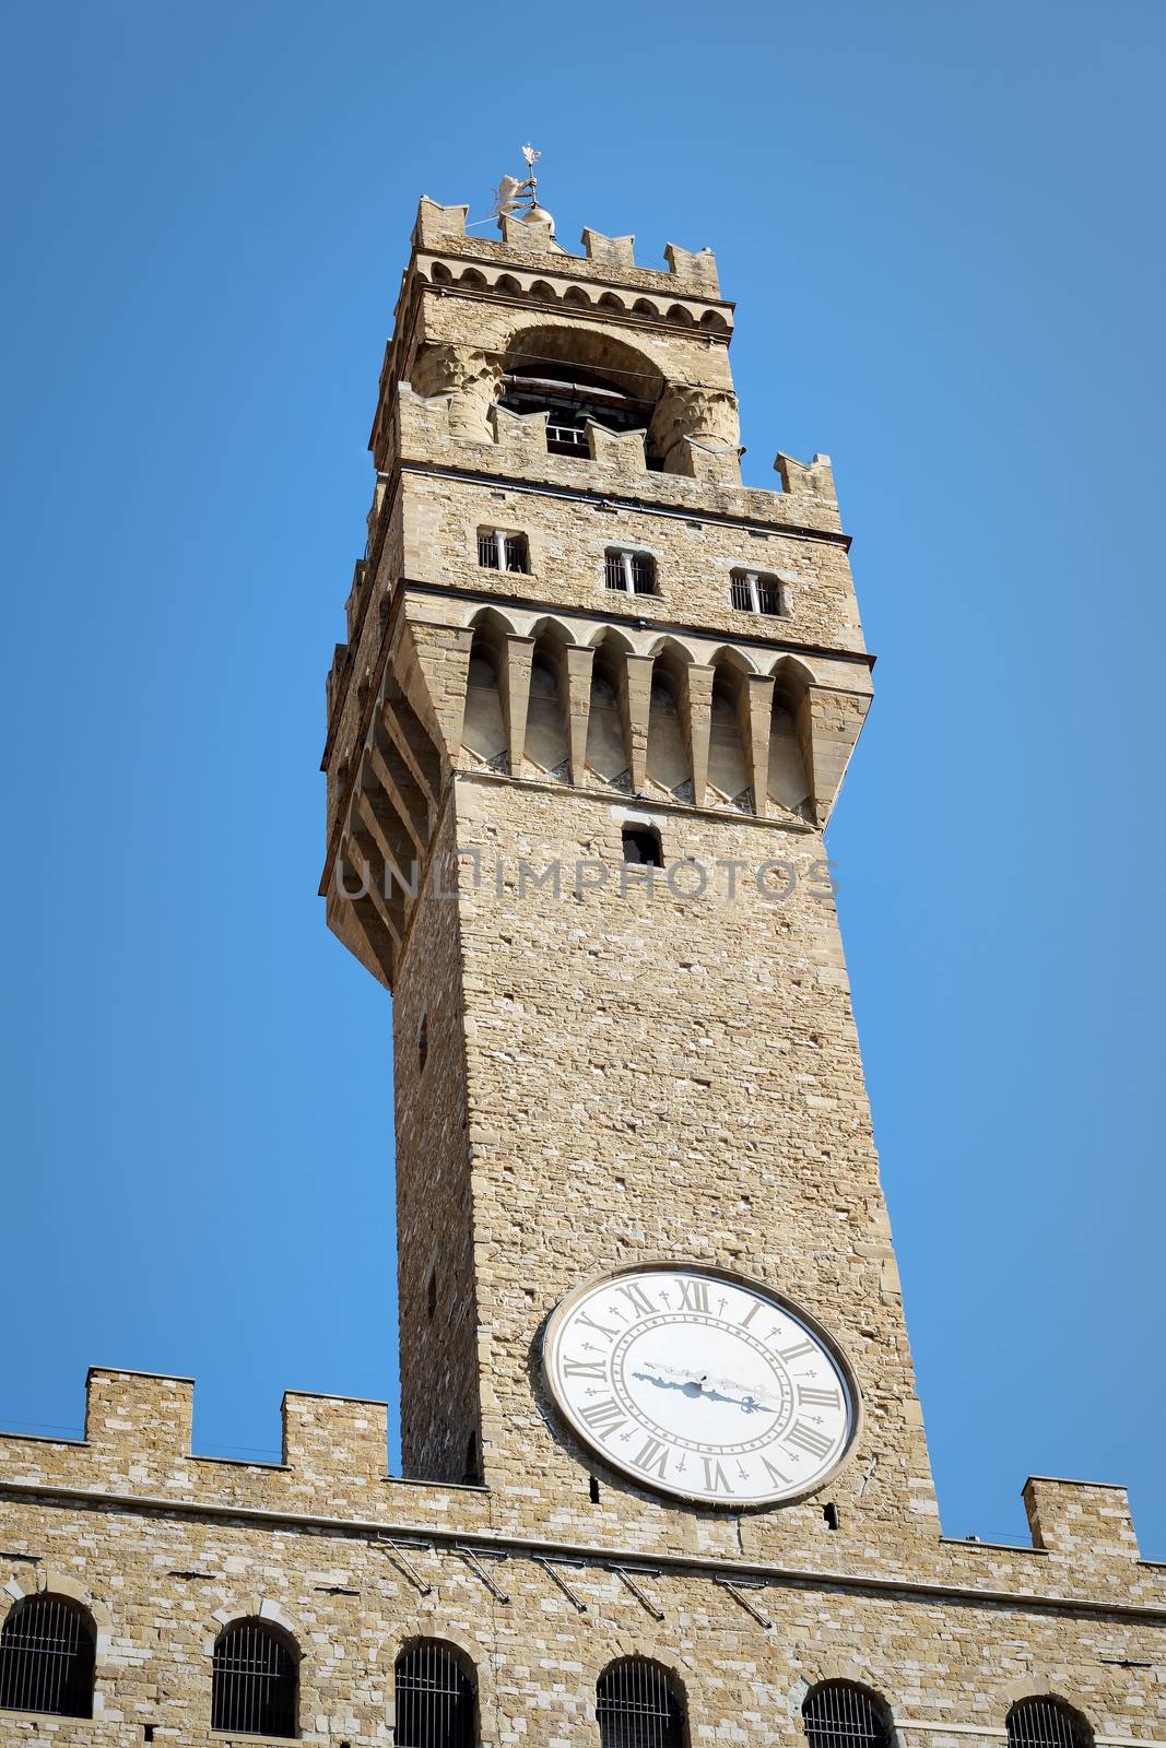
[[[154,1383],[168,1386],[166,1398],[184,1395],[182,1381]],[[147,1391],[143,1381],[115,1376],[110,1390],[131,1407],[135,1423],[121,1437],[133,1461],[131,1439],[136,1449],[150,1447],[140,1418]],[[341,1465],[344,1428],[351,1437],[364,1407],[323,1411]],[[173,1421],[171,1411],[173,1400],[159,1404],[163,1440],[173,1432],[173,1425],[161,1430]],[[119,1437],[108,1426],[101,1435]],[[323,1449],[316,1454],[325,1461]],[[44,1461],[52,1467],[52,1458]],[[233,1467],[220,1465],[224,1472]],[[206,1486],[206,1498],[215,1491],[213,1482]],[[456,1502],[448,1530],[481,1521],[479,1493],[448,1496]],[[332,1748],[393,1741],[393,1659],[418,1634],[458,1647],[472,1662],[484,1748],[521,1741],[598,1748],[594,1682],[608,1659],[628,1654],[654,1655],[675,1671],[692,1745],[797,1748],[806,1689],[830,1676],[862,1680],[883,1696],[902,1748],[1003,1743],[1009,1704],[1033,1692],[1058,1692],[1077,1704],[1103,1748],[1166,1736],[1161,1575],[1157,1619],[1122,1615],[1121,1603],[1073,1615],[1019,1594],[977,1599],[771,1578],[743,1592],[766,1627],[711,1571],[698,1568],[640,1575],[659,1613],[652,1619],[612,1564],[594,1556],[556,1568],[577,1601],[523,1550],[488,1561],[484,1570],[505,1598],[498,1599],[449,1535],[428,1547],[402,1547],[367,1530],[294,1519],[257,1524],[210,1507],[182,1512],[0,1495],[0,1619],[19,1596],[49,1587],[82,1601],[98,1626],[94,1720],[0,1711],[3,1748],[129,1748],[143,1741],[147,1725],[156,1741],[185,1748],[236,1739],[208,1729],[210,1657],[224,1622],[255,1613],[292,1634],[301,1659],[301,1736]],[[965,1566],[979,1564],[981,1584],[1005,1563],[1002,1550],[958,1547],[953,1554]],[[1009,1559],[1016,1564],[1019,1554]],[[1030,1571],[1012,1582],[1014,1592],[1024,1582],[1063,1587],[1056,1556],[1030,1554],[1028,1563],[1040,1568],[1040,1582]],[[1129,1557],[1122,1568],[1129,1577],[1145,1571]],[[1105,1592],[1101,1582],[1091,1587]]]

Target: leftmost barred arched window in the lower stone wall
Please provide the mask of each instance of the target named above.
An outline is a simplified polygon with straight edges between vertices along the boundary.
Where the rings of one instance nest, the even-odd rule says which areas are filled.
[[[93,1717],[96,1638],[84,1608],[66,1596],[24,1596],[0,1633],[0,1706]]]

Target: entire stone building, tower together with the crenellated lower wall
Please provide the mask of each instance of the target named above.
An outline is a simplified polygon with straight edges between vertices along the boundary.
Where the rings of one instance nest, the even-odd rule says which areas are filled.
[[[711,253],[530,194],[421,201],[327,683],[406,1474],[385,1404],[224,1460],[94,1367],[84,1439],[0,1435],[0,1748],[1166,1748],[1121,1486],[940,1531],[822,839],[871,703],[829,460],[745,488]]]

